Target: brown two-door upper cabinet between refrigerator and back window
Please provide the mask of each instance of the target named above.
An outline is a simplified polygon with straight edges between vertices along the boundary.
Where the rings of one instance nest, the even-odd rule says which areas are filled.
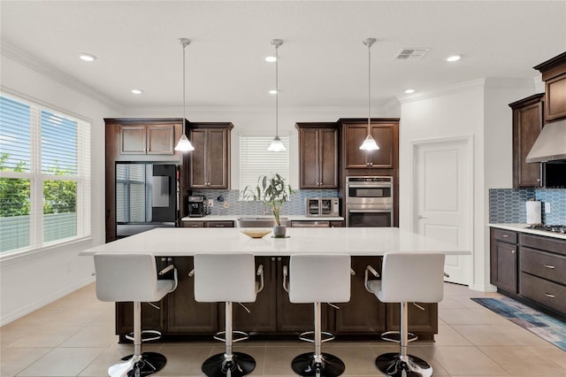
[[[195,150],[188,156],[189,188],[230,188],[232,123],[190,123],[188,139]]]

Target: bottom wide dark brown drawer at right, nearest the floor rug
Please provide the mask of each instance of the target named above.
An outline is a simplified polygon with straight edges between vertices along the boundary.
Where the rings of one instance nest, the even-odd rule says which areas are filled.
[[[566,287],[552,281],[521,273],[519,283],[521,296],[543,304],[556,312],[566,313]]]

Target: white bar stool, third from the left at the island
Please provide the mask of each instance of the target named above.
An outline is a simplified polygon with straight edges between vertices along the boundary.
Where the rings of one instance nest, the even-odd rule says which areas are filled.
[[[299,338],[314,342],[315,351],[303,353],[293,359],[291,367],[301,376],[339,376],[344,373],[344,362],[322,352],[322,343],[334,339],[321,330],[321,303],[347,303],[350,300],[350,257],[348,255],[292,255],[289,271],[284,266],[283,288],[289,292],[294,304],[314,304],[314,331]],[[287,285],[288,274],[288,285]],[[305,335],[313,334],[314,340]],[[327,336],[324,340],[322,336]]]

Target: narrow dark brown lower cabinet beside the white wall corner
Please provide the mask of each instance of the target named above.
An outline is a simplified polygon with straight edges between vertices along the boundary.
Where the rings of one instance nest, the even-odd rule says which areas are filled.
[[[491,283],[509,293],[517,292],[516,232],[491,228]]]

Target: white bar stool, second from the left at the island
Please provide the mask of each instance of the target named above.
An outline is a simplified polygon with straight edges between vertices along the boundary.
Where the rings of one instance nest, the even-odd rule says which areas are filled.
[[[233,331],[232,304],[253,303],[256,295],[264,289],[264,266],[256,272],[254,256],[251,254],[195,254],[195,301],[203,303],[226,303],[226,329],[214,339],[226,342],[226,352],[207,358],[203,373],[209,377],[240,377],[256,368],[256,360],[246,353],[233,352],[233,342],[248,339],[241,331]],[[260,281],[256,281],[256,275]],[[219,335],[225,335],[221,338]],[[241,335],[234,339],[233,334]]]

